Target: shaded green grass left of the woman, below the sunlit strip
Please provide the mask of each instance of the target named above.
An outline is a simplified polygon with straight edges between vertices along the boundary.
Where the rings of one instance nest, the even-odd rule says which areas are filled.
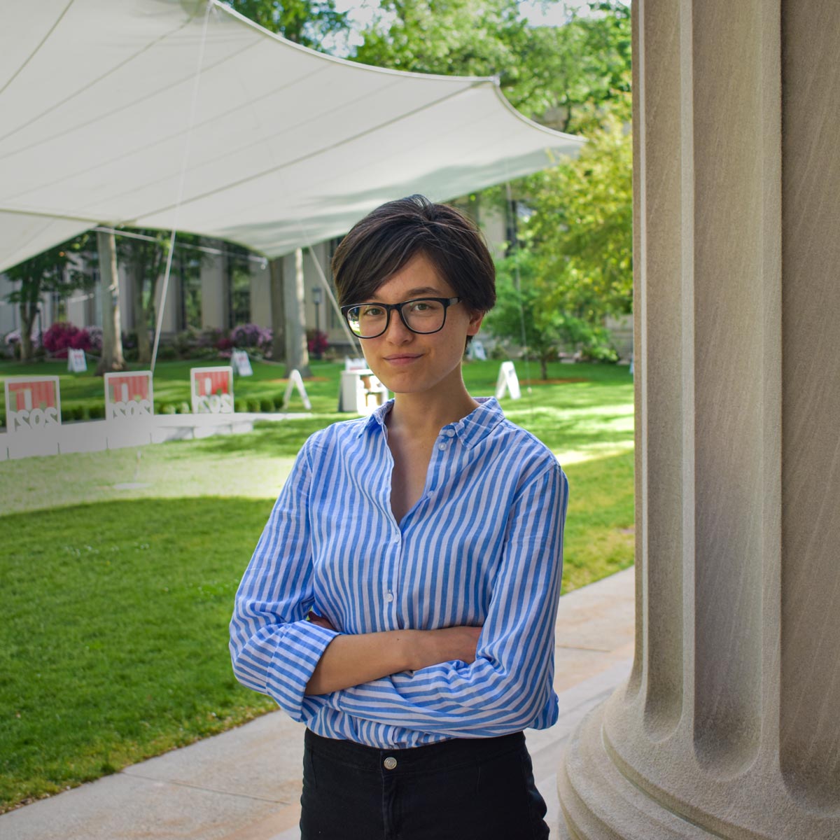
[[[268,711],[227,655],[269,500],[110,501],[4,517],[0,807]]]

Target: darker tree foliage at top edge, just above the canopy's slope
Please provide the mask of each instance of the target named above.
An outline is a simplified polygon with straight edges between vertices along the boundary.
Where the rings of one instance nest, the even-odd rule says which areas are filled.
[[[255,24],[284,38],[323,50],[328,35],[347,29],[347,13],[337,12],[334,0],[225,0],[225,4]]]

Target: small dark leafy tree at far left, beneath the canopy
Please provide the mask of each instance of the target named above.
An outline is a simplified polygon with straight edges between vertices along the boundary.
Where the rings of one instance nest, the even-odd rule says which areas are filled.
[[[22,360],[29,360],[33,355],[32,326],[38,315],[41,298],[50,292],[69,295],[71,291],[91,285],[91,278],[77,268],[83,261],[79,255],[86,244],[87,234],[82,234],[5,271],[10,281],[20,283],[19,288],[9,292],[6,300],[19,306]]]

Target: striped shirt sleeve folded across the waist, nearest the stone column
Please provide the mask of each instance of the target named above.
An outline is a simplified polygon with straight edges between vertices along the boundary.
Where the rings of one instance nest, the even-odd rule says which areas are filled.
[[[445,662],[336,692],[341,711],[451,738],[489,738],[538,722],[554,696],[554,624],[568,482],[552,465],[519,491],[475,662]],[[549,726],[556,717],[541,722]]]

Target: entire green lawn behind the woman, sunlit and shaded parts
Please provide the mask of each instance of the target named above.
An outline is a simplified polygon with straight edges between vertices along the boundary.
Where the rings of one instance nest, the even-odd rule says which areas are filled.
[[[491,393],[497,370],[467,365],[470,391]],[[333,412],[340,366],[314,372]],[[569,591],[633,562],[633,384],[612,366],[549,375],[574,381],[502,405],[569,475]],[[234,591],[303,439],[344,417],[0,462],[0,811],[273,708],[231,674]]]

